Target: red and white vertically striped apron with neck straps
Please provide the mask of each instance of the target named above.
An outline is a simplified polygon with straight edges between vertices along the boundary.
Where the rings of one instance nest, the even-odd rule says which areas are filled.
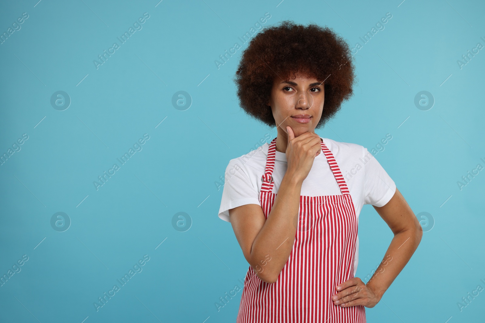
[[[273,284],[259,279],[249,266],[237,323],[366,322],[364,306],[341,307],[331,299],[337,285],[354,277],[357,217],[339,166],[321,143],[342,194],[300,196],[298,230],[290,257]],[[276,138],[269,145],[261,177],[259,201],[266,218],[276,196],[272,193],[275,151]]]

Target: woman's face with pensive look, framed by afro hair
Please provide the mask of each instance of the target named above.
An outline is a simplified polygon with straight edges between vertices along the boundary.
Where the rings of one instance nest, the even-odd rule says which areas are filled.
[[[320,121],[325,92],[323,82],[300,74],[296,78],[282,80],[275,77],[271,97],[267,105],[273,111],[277,131],[291,127],[295,137],[314,132]]]

